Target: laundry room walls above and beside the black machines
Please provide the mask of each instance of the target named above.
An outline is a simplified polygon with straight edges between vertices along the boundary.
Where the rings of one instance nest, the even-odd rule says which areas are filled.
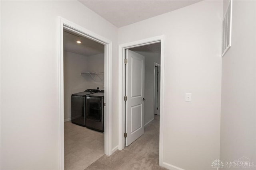
[[[104,54],[87,57],[64,51],[64,121],[71,120],[72,94],[104,87],[104,80],[97,76],[95,80],[91,76],[81,76],[82,72],[104,72]],[[100,78],[104,78],[104,74]]]

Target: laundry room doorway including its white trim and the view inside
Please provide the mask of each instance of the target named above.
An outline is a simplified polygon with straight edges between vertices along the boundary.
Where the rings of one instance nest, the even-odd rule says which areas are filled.
[[[112,154],[112,43],[64,18],[59,17],[58,21],[59,165],[60,170],[64,170],[64,166],[65,169],[86,168],[86,164],[92,163],[88,158],[97,159],[95,154]],[[84,57],[82,53],[86,50],[78,44],[86,46],[89,56]],[[90,141],[90,136],[100,140]],[[92,147],[101,150],[95,153]]]

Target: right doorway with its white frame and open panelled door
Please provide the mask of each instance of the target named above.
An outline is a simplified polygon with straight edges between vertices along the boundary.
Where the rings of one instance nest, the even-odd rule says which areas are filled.
[[[154,53],[155,52],[155,53]],[[138,145],[141,141],[150,141],[145,152],[152,152],[159,158],[162,166],[162,127],[163,127],[163,68],[164,68],[164,36],[153,37],[120,45],[120,56],[123,63],[120,76],[122,103],[120,103],[119,150]],[[155,58],[154,58],[155,57]],[[160,63],[160,64],[157,64]],[[130,65],[129,65],[130,64]],[[159,73],[161,86],[158,99],[159,113],[155,115],[155,65]],[[156,94],[158,95],[158,94]],[[161,98],[161,100],[160,100]],[[121,95],[120,95],[121,99]],[[157,107],[157,104],[156,104]],[[145,129],[144,129],[145,127]],[[154,129],[153,131],[151,131]],[[152,135],[152,136],[151,136]],[[159,136],[158,136],[159,135]],[[154,141],[152,138],[154,137]],[[143,143],[142,142],[142,143]],[[133,148],[133,147],[131,147]],[[137,148],[138,149],[138,148]]]

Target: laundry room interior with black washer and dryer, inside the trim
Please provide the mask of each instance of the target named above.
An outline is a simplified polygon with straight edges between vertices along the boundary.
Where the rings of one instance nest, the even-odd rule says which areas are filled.
[[[104,155],[104,45],[63,31],[65,169]]]

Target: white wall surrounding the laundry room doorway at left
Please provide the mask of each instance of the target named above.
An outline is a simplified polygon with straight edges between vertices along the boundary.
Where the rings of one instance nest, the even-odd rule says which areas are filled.
[[[59,169],[58,16],[113,43],[112,148],[118,145],[117,28],[78,1],[1,1],[2,170]]]

